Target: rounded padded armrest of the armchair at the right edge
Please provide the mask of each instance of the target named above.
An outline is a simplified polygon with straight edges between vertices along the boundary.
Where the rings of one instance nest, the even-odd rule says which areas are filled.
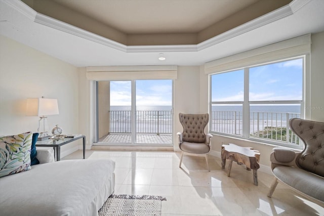
[[[286,166],[297,166],[296,157],[300,152],[295,152],[291,149],[285,148],[273,148],[273,152],[270,155],[271,163],[286,165]]]

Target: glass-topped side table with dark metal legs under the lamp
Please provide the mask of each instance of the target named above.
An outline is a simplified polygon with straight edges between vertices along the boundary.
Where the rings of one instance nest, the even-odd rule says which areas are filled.
[[[56,161],[60,160],[61,157],[61,146],[68,144],[70,142],[83,139],[83,159],[86,158],[86,136],[79,135],[74,138],[64,138],[62,140],[43,140],[43,141],[37,141],[36,147],[53,147],[54,149],[54,155],[56,155]]]

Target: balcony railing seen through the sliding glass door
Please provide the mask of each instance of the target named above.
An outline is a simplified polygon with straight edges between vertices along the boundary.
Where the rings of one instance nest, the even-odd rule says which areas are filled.
[[[132,133],[132,111],[110,111],[110,133]],[[172,134],[170,111],[136,111],[136,133]]]

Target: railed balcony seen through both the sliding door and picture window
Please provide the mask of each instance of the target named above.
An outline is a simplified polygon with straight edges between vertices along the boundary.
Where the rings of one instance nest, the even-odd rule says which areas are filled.
[[[173,118],[170,111],[136,111],[136,136],[132,140],[132,112],[110,111],[110,133],[99,139],[102,143],[172,144]],[[300,145],[299,138],[289,128],[289,119],[299,113],[250,112],[250,138]],[[241,111],[212,111],[211,131],[243,135]],[[288,133],[287,133],[288,132]]]

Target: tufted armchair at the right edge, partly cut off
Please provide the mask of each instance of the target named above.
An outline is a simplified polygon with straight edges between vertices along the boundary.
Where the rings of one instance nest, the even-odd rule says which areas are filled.
[[[268,197],[277,180],[310,198],[324,202],[324,123],[300,118],[290,119],[290,128],[304,142],[302,152],[273,148],[271,169],[275,176]]]

